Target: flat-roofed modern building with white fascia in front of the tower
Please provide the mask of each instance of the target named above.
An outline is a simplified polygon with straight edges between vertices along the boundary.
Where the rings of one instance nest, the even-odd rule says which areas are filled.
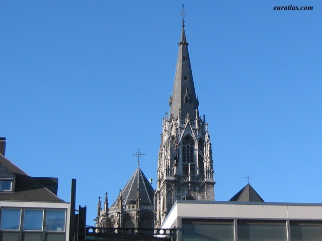
[[[178,241],[317,241],[322,204],[178,200],[162,225],[174,227]]]

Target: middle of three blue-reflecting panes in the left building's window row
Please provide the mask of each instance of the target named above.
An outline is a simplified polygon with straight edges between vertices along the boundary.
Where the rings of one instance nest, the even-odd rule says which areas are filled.
[[[26,209],[24,215],[24,230],[42,230],[44,211],[41,209]]]

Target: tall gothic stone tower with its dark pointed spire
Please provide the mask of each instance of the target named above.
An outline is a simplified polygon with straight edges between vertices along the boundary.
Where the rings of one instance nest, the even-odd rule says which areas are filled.
[[[159,227],[176,200],[214,200],[214,171],[208,124],[199,116],[185,21],[170,96],[170,114],[163,118],[154,194],[155,226]]]

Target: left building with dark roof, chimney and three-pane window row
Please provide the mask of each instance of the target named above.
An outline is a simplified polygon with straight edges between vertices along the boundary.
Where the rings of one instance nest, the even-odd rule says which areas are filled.
[[[69,240],[70,203],[57,196],[57,178],[31,177],[5,157],[0,138],[0,240]]]

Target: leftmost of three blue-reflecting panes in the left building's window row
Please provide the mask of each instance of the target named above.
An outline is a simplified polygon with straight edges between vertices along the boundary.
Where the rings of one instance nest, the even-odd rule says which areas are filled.
[[[1,212],[0,229],[20,230],[21,209],[3,208]]]

